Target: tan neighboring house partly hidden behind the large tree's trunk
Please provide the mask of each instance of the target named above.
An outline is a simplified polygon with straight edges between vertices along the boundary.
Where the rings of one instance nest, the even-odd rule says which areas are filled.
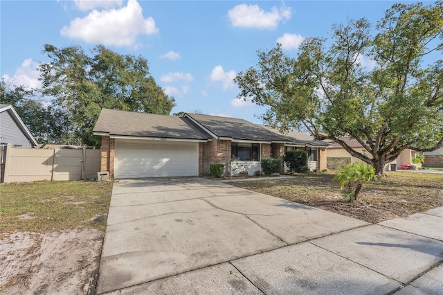
[[[356,141],[355,139],[350,138],[341,138],[347,145],[352,147],[353,150],[356,152],[361,152],[362,154],[367,154],[368,157],[370,157],[370,154],[368,154],[368,151],[366,151],[363,146]],[[329,143],[332,143],[331,147],[327,148],[327,168],[329,169],[337,169],[341,168],[343,166],[346,166],[347,164],[353,164],[356,162],[361,162],[361,159],[352,157],[349,152],[347,152],[341,145],[334,141],[327,141]],[[399,157],[395,161],[392,161],[390,163],[386,163],[385,170],[390,170],[391,163],[397,164],[397,168],[400,168],[402,164],[411,164],[412,159],[415,157],[417,152],[414,150],[406,149],[401,154],[399,154]]]

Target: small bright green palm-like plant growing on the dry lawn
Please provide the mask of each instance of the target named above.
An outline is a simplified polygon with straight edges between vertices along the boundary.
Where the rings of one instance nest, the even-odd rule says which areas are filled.
[[[377,179],[375,169],[367,166],[365,163],[357,162],[337,170],[337,175],[333,181],[340,185],[343,195],[350,198],[350,201],[356,201],[363,184],[368,183],[372,179]]]

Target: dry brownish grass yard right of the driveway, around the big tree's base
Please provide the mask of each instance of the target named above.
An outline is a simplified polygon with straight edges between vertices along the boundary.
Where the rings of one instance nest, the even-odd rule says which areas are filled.
[[[343,199],[333,178],[300,175],[230,184],[373,223],[443,206],[443,175],[388,172],[388,177],[365,184],[356,203]]]

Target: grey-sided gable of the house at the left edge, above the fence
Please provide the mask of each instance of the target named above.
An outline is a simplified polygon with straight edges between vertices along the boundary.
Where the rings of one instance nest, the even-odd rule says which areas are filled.
[[[35,147],[37,141],[12,107],[0,104],[0,145]]]

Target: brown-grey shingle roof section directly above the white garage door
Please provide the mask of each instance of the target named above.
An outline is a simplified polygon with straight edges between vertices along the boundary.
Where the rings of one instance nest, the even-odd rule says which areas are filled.
[[[93,134],[111,138],[169,138],[208,141],[211,136],[201,132],[187,118],[102,109]]]

